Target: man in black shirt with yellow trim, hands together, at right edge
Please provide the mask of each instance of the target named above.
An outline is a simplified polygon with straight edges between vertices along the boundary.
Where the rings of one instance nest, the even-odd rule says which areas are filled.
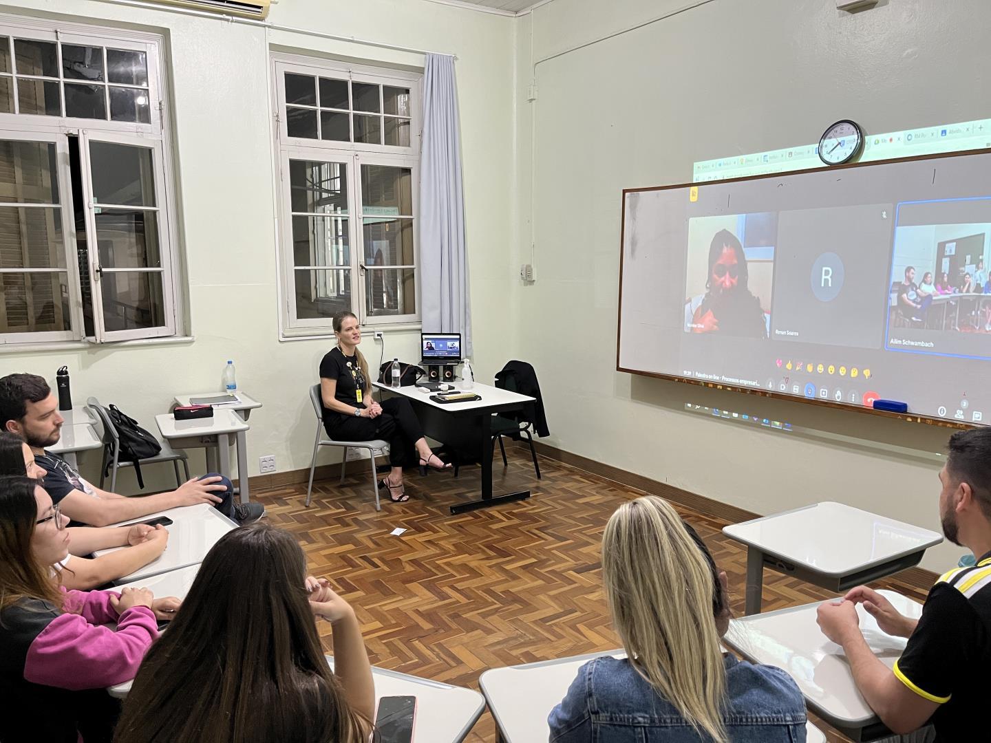
[[[940,577],[918,622],[862,585],[839,603],[822,604],[819,625],[843,647],[857,689],[891,730],[910,732],[932,718],[940,742],[986,740],[980,710],[991,667],[991,429],[953,434],[939,481],[943,535],[973,552],[976,565]],[[893,670],[864,641],[857,603],[883,631],[909,638]]]

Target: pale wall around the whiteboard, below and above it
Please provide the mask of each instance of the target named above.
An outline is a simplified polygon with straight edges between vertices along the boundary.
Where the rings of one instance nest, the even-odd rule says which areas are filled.
[[[536,281],[519,285],[518,349],[543,381],[545,441],[758,513],[831,499],[938,530],[939,466],[924,454],[945,429],[615,371],[620,192],[690,181],[694,160],[815,142],[837,119],[869,133],[991,115],[989,23],[984,0],[856,14],[822,0],[554,0],[521,18],[519,263],[532,258]],[[960,552],[943,545],[924,566]]]

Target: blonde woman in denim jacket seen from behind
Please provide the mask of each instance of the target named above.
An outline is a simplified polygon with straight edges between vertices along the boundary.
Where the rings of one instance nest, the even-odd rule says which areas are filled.
[[[551,743],[806,739],[788,674],[724,655],[726,575],[667,503],[619,506],[603,536],[603,581],[626,658],[597,658],[551,712]]]

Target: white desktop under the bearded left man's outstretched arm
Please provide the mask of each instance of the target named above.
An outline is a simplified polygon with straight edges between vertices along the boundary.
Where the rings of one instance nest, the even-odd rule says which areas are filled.
[[[168,530],[168,545],[165,552],[153,560],[151,563],[129,576],[124,576],[114,581],[115,585],[132,584],[141,582],[160,573],[168,573],[179,568],[190,565],[199,565],[206,557],[206,553],[237,524],[224,516],[220,511],[211,505],[201,503],[199,505],[187,505],[181,508],[170,508],[167,511],[153,513],[140,518],[133,518],[114,526],[127,526],[128,524],[140,524],[158,516],[167,516],[172,519],[172,523],[166,526]],[[127,547],[112,547],[107,550],[98,550],[93,553],[97,557],[106,555],[117,550],[126,550]]]

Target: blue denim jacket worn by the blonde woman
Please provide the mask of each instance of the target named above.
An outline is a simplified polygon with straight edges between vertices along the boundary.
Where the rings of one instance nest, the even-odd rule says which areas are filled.
[[[732,743],[805,743],[802,692],[788,674],[724,656]],[[630,665],[609,656],[579,669],[547,722],[551,743],[709,743]]]

